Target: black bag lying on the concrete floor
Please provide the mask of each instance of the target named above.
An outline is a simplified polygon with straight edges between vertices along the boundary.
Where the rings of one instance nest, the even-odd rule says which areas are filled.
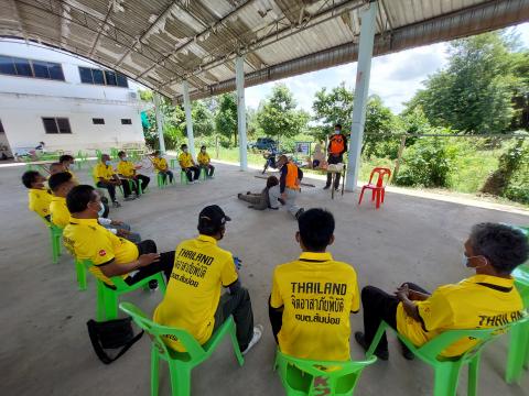
[[[134,336],[131,322],[132,318],[130,317],[105,322],[90,319],[86,322],[94,351],[102,363],[110,364],[118,360],[143,336],[143,330]],[[118,348],[121,348],[121,350],[114,358],[110,358],[105,351],[106,349]]]

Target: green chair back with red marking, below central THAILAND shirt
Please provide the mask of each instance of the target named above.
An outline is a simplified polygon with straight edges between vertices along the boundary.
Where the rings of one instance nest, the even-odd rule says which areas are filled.
[[[298,359],[276,352],[273,370],[278,370],[287,396],[353,395],[361,372],[377,358],[360,362],[328,362]]]

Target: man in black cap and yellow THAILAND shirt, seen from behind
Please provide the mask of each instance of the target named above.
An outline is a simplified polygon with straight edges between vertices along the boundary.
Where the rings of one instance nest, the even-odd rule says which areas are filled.
[[[201,211],[199,235],[176,248],[171,280],[154,311],[154,321],[183,328],[204,344],[233,315],[240,351],[247,353],[261,338],[262,326],[253,327],[250,295],[240,286],[234,256],[217,246],[229,220],[216,205]],[[229,293],[220,297],[223,287]],[[176,351],[184,351],[175,339],[166,338],[165,342]]]

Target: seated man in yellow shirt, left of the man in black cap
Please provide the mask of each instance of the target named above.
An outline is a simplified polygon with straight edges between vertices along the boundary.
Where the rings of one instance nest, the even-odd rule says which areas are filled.
[[[90,272],[110,288],[112,276],[121,276],[128,285],[162,272],[169,280],[173,270],[174,251],[156,253],[154,241],[138,244],[127,241],[99,226],[101,210],[99,193],[87,185],[75,186],[66,196],[66,206],[72,213],[64,228],[64,245],[78,258],[93,262]],[[155,282],[149,284],[156,288]]]

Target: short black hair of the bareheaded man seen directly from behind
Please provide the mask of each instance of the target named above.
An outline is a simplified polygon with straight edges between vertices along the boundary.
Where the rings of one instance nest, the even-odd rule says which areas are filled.
[[[309,209],[298,219],[303,245],[311,252],[322,252],[334,233],[334,216],[325,209]]]

